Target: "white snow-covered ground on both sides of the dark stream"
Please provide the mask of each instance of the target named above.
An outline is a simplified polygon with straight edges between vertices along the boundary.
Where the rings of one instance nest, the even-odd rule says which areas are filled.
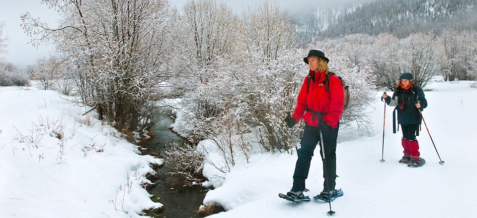
[[[372,112],[375,135],[357,138],[340,131],[337,188],[344,196],[331,203],[334,217],[475,218],[477,211],[477,89],[473,82],[433,83],[425,92],[424,118],[439,158],[422,125],[418,136],[427,163],[410,168],[397,163],[401,133],[392,133],[392,107],[386,110],[381,163],[384,103]],[[62,99],[63,98],[63,99]],[[141,183],[162,160],[138,155],[138,149],[86,109],[53,91],[0,87],[0,217],[128,218],[160,207]],[[345,139],[345,140],[343,140]],[[351,140],[350,140],[351,139]],[[210,191],[204,203],[228,212],[211,218],[327,217],[325,202],[295,204],[278,198],[292,185],[296,155],[257,154],[239,163]],[[213,176],[213,167],[204,174]],[[312,161],[307,188],[322,189],[321,160]]]

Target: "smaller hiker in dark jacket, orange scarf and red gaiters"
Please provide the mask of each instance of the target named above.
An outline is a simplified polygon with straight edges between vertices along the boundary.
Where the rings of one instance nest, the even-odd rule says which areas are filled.
[[[402,73],[393,97],[383,94],[383,99],[389,106],[396,106],[397,123],[401,124],[401,145],[404,148],[404,156],[399,163],[407,163],[408,166],[422,166],[425,162],[420,157],[419,143],[416,140],[416,132],[421,124],[420,111],[427,107],[424,92],[419,86],[412,83],[412,74]]]

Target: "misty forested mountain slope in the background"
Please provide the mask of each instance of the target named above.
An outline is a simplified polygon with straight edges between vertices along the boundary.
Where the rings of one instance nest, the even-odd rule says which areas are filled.
[[[477,0],[376,0],[295,15],[299,41],[383,32],[404,38],[414,32],[476,29]],[[310,19],[313,14],[315,19]],[[303,15],[303,14],[302,14]]]

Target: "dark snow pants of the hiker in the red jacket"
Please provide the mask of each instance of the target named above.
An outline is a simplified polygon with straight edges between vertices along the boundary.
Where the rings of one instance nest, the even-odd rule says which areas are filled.
[[[336,139],[338,137],[338,129],[339,126],[335,129],[327,126],[321,130],[325,151],[324,155],[326,158],[326,171],[328,174],[325,175],[323,163],[323,191],[334,190],[336,185]],[[305,180],[308,178],[313,152],[315,151],[319,140],[319,129],[315,126],[306,125],[301,141],[301,148],[298,149],[298,160],[295,166],[295,173],[293,174],[294,189],[305,189]],[[321,147],[319,150],[321,160],[323,160]]]

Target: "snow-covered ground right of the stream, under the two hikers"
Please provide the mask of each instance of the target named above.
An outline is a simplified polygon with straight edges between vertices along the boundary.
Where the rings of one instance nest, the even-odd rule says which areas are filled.
[[[401,132],[393,134],[392,107],[386,108],[384,159],[381,163],[384,103],[372,112],[375,135],[341,142],[337,147],[337,188],[344,196],[331,202],[336,214],[345,218],[476,218],[477,211],[477,89],[474,82],[435,82],[425,92],[428,108],[426,127],[417,137],[426,164],[407,167],[397,161],[402,156]],[[353,131],[340,131],[341,138]],[[312,160],[307,188],[310,196],[322,190],[319,154]],[[204,203],[221,204],[228,212],[210,218],[319,218],[327,217],[329,205],[312,199],[292,203],[278,198],[292,186],[297,156],[260,154],[249,164],[237,164],[222,186],[209,191]],[[206,167],[206,175],[214,174]]]

